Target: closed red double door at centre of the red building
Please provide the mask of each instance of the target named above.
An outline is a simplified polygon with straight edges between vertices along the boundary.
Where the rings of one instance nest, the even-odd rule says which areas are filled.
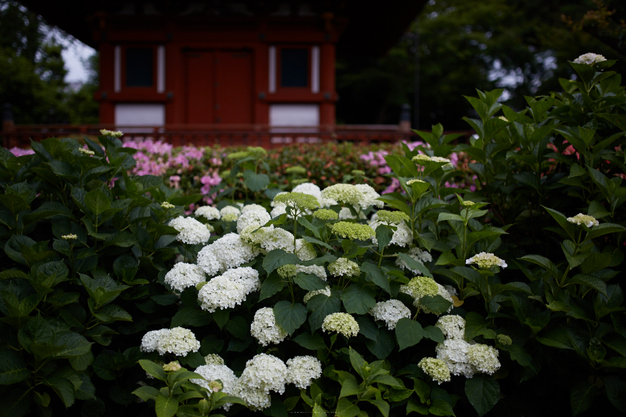
[[[252,123],[252,52],[201,50],[185,54],[187,123]]]

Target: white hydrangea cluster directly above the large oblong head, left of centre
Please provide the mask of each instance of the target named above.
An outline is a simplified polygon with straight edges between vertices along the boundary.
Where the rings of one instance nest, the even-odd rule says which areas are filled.
[[[228,233],[198,252],[198,266],[209,276],[250,262],[260,250],[243,240],[237,233]]]

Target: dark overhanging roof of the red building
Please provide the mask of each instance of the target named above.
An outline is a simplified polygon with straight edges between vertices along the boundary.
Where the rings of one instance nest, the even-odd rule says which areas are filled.
[[[337,44],[341,57],[381,56],[420,13],[427,0],[21,0],[51,25],[96,47],[94,33],[107,22],[132,19],[169,21],[206,18],[318,17],[343,28]]]

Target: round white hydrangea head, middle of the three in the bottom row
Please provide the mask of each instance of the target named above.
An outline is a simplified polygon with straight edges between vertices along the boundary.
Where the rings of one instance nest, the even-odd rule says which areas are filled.
[[[260,353],[246,362],[239,380],[247,387],[266,394],[272,391],[284,394],[287,365],[276,356]]]

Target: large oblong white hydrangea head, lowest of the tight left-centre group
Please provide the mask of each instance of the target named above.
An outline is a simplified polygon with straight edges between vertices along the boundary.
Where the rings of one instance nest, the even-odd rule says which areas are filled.
[[[203,310],[233,308],[245,301],[248,294],[261,287],[259,272],[250,267],[233,268],[212,278],[198,291],[198,302]]]

